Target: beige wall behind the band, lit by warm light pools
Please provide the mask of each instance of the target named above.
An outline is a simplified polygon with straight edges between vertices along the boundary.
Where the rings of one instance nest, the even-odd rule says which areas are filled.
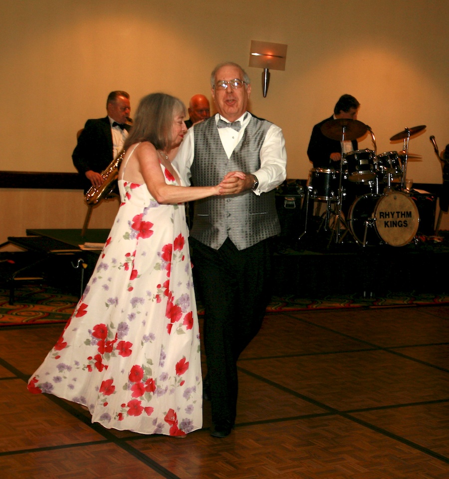
[[[448,14],[448,0],[0,0],[0,169],[74,171],[76,131],[105,115],[109,91],[127,90],[134,108],[152,91],[186,103],[195,93],[211,97],[215,64],[247,67],[251,40],[264,40],[288,45],[286,68],[271,71],[266,98],[261,70],[246,68],[250,107],[283,128],[290,178],[308,176],[312,126],[351,93],[378,152],[402,149],[389,138],[427,125],[410,141],[423,159],[409,162],[408,176],[441,183],[429,136],[440,149],[449,143]],[[370,138],[360,147],[372,148]],[[81,227],[79,194],[3,191],[0,241],[31,223],[52,227],[54,203],[61,218],[65,204],[71,211],[61,227]],[[13,228],[10,215],[23,224]]]

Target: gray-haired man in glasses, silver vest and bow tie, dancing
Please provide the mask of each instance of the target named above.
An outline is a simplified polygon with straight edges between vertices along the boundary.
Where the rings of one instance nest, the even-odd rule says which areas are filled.
[[[286,152],[281,129],[246,111],[251,85],[239,65],[218,65],[211,84],[218,113],[188,130],[175,163],[195,186],[225,177],[222,187],[232,194],[197,201],[190,236],[205,307],[211,435],[224,438],[236,416],[237,359],[269,301],[270,239],[280,232],[274,188],[286,177]]]

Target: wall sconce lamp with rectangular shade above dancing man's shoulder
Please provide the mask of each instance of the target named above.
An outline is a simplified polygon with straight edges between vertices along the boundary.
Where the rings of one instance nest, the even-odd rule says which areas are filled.
[[[269,70],[285,70],[285,59],[287,56],[287,45],[282,43],[270,43],[268,41],[251,40],[249,50],[249,66],[263,68],[262,92],[266,97],[268,84],[270,82]]]

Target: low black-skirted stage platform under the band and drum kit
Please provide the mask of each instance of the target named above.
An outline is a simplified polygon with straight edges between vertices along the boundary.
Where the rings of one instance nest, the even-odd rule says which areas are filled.
[[[56,285],[80,293],[80,281],[87,283],[100,250],[82,250],[85,242],[104,243],[109,230],[88,230],[81,237],[79,229],[29,229],[29,246],[51,258],[54,251],[69,250],[57,255],[47,266]],[[332,294],[382,295],[387,292],[448,292],[449,232],[441,232],[441,241],[421,236],[405,246],[388,244],[362,246],[348,235],[337,243],[329,232],[307,233],[298,239],[289,231],[275,239],[273,261],[273,294],[277,296],[319,297]],[[26,238],[26,237],[25,237]],[[37,240],[36,240],[37,238]],[[330,241],[329,241],[330,240]],[[34,246],[32,242],[34,241]],[[45,251],[43,251],[45,250]],[[73,267],[77,259],[86,265],[82,277]]]

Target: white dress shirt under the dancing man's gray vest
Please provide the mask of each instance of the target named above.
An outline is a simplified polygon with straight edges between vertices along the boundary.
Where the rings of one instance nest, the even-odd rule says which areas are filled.
[[[219,119],[225,121],[226,118],[219,113],[215,115],[215,121],[218,123]],[[222,140],[223,148],[229,158],[243,137],[246,125],[249,123],[251,115],[245,112],[237,121],[240,121],[240,131],[235,131],[232,128],[219,128],[219,135]],[[184,136],[183,142],[178,150],[173,163],[180,171],[186,184],[190,185],[190,167],[192,165],[195,155],[195,128],[189,128]],[[260,168],[257,171],[245,171],[244,173],[254,174],[259,185],[254,193],[266,193],[271,191],[276,186],[280,185],[286,178],[285,167],[287,164],[287,153],[285,151],[285,140],[282,130],[272,124],[266,133],[262,147],[260,149]]]

